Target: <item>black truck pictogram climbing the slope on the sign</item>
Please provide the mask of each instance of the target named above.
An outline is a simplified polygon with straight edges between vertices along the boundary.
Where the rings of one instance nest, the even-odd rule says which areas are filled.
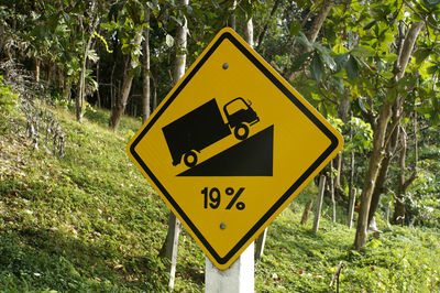
[[[173,165],[184,162],[191,167],[197,164],[197,153],[212,143],[231,134],[239,140],[249,135],[249,126],[260,121],[256,112],[251,108],[252,102],[243,98],[235,98],[223,106],[228,122],[224,123],[216,99],[211,99],[179,119],[165,126],[162,131]]]

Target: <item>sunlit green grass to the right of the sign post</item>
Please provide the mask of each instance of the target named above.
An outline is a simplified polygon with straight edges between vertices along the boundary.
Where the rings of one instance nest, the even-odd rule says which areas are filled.
[[[298,197],[307,196],[302,193]],[[380,239],[372,238],[365,250],[355,251],[351,247],[354,231],[326,218],[331,208],[324,206],[328,211],[314,236],[311,221],[299,225],[302,205],[297,202],[302,199],[295,199],[270,227],[268,252],[256,264],[257,292],[328,292],[340,261],[344,265],[342,292],[440,289],[439,230],[385,227]]]

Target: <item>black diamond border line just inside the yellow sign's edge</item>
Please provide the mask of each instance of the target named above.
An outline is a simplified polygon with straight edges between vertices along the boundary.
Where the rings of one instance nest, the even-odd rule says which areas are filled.
[[[168,108],[168,106],[174,101],[174,99],[180,94],[180,91],[185,88],[185,86],[191,80],[191,78],[197,74],[197,72],[201,68],[205,62],[212,55],[212,53],[220,46],[220,44],[224,41],[229,40],[232,44],[235,45],[241,53],[243,53],[249,61],[251,61],[287,98],[292,100],[295,106],[299,108],[299,110],[306,115],[322,131],[326,137],[328,137],[331,141],[330,146],[327,148],[326,151],[302,173],[302,175],[288,188],[284,195],[271,207],[271,209],[264,214],[264,216],[243,236],[242,239],[224,256],[220,257],[217,251],[211,247],[211,245],[205,239],[202,234],[197,229],[196,225],[190,220],[190,218],[185,214],[185,211],[180,208],[180,206],[174,200],[173,196],[166,191],[165,186],[156,178],[154,173],[146,166],[146,164],[142,161],[140,155],[136,153],[135,148],[140,143],[140,141],[144,138],[146,132],[154,126],[157,119],[164,113],[164,111]],[[201,59],[196,64],[193,70],[186,76],[186,78],[182,82],[182,84],[177,87],[177,89],[172,94],[172,96],[165,101],[165,104],[161,107],[158,112],[150,120],[147,126],[142,130],[142,132],[138,135],[138,138],[130,145],[130,152],[133,158],[138,161],[141,167],[145,171],[145,173],[150,176],[153,183],[161,189],[162,194],[166,197],[166,199],[172,204],[175,210],[179,214],[182,219],[189,226],[193,232],[198,237],[201,243],[204,243],[205,248],[211,253],[211,256],[216,259],[216,261],[220,264],[227,263],[244,245],[245,242],[255,235],[255,232],[274,215],[274,213],[290,197],[290,195],[310,176],[311,173],[338,148],[339,140],[338,138],[314,115],[310,110],[302,105],[298,98],[288,90],[278,78],[276,78],[267,68],[264,66],[248,48],[240,43],[230,32],[222,33],[216,43],[209,48],[209,51],[201,57]]]

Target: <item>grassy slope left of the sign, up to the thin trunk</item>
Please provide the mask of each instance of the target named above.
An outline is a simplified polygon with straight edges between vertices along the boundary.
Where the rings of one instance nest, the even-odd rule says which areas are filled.
[[[92,124],[79,127],[65,110],[58,115],[69,138],[63,160],[1,141],[0,284],[3,290],[162,291],[166,275],[155,252],[164,223],[148,223],[164,219],[166,211],[133,174],[121,152],[125,139]]]

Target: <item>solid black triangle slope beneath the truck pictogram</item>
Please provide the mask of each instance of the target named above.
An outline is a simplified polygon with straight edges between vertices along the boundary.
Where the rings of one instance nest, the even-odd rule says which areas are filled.
[[[177,176],[272,176],[274,126]]]

